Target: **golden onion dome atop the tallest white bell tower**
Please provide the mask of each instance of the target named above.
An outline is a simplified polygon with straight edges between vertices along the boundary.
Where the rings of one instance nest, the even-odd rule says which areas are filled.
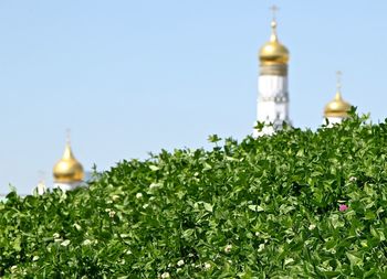
[[[259,53],[261,64],[286,64],[289,62],[289,51],[286,46],[280,43],[276,35],[276,22],[271,22],[272,34],[270,41],[265,43]]]

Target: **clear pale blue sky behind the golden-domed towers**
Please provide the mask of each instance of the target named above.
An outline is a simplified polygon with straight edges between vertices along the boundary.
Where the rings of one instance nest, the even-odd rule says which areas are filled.
[[[387,116],[387,2],[275,1],[291,52],[290,114],[316,128],[335,93]],[[0,192],[29,193],[61,158],[65,130],[85,169],[161,148],[242,139],[255,119],[266,0],[0,2]]]

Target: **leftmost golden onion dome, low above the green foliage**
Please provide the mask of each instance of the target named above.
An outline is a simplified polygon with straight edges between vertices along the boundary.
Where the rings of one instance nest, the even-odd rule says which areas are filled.
[[[54,165],[55,182],[80,182],[84,178],[82,164],[74,158],[70,142],[66,143],[62,159]]]

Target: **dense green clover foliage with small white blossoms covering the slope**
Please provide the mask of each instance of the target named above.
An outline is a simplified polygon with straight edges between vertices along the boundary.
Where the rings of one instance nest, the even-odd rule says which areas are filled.
[[[10,193],[0,276],[387,278],[387,122],[210,141]]]

